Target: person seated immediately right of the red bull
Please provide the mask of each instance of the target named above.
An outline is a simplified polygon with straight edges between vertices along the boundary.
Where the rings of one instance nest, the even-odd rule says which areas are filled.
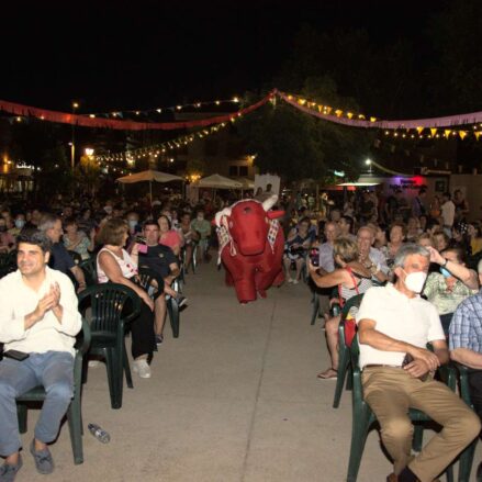
[[[314,239],[313,232],[310,232],[310,217],[302,217],[298,226],[291,229],[284,244],[283,264],[289,283],[298,284],[301,279],[301,271],[306,261],[306,255]],[[336,229],[336,224],[334,224]],[[296,274],[290,276],[291,264],[294,262]]]

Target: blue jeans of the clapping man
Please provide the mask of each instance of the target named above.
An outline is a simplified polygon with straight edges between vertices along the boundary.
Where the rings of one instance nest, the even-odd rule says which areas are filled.
[[[0,361],[0,455],[8,457],[22,447],[15,397],[43,385],[46,397],[35,426],[35,438],[55,440],[74,396],[74,357],[67,351],[30,354],[23,361]]]

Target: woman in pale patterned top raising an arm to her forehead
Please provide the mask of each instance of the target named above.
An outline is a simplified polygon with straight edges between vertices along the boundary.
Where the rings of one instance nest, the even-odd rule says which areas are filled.
[[[427,249],[430,251],[430,261],[440,266],[440,272],[428,276],[423,294],[437,309],[447,335],[457,306],[478,292],[478,276],[466,267],[464,251],[461,248],[447,248],[441,253],[433,247]]]

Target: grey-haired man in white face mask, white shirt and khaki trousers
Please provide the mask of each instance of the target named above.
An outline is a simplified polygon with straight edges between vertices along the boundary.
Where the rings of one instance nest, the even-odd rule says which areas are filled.
[[[402,246],[394,260],[395,283],[368,290],[357,313],[365,400],[394,462],[390,482],[431,482],[480,431],[478,416],[431,378],[448,361],[448,350],[437,310],[419,296],[429,264],[426,248]],[[444,427],[414,458],[408,408]]]

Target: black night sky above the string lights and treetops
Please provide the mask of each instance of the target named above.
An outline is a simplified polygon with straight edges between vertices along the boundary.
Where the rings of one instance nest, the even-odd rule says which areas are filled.
[[[416,41],[446,1],[8,3],[0,99],[63,111],[79,100],[80,112],[100,112],[274,87],[301,24]]]

